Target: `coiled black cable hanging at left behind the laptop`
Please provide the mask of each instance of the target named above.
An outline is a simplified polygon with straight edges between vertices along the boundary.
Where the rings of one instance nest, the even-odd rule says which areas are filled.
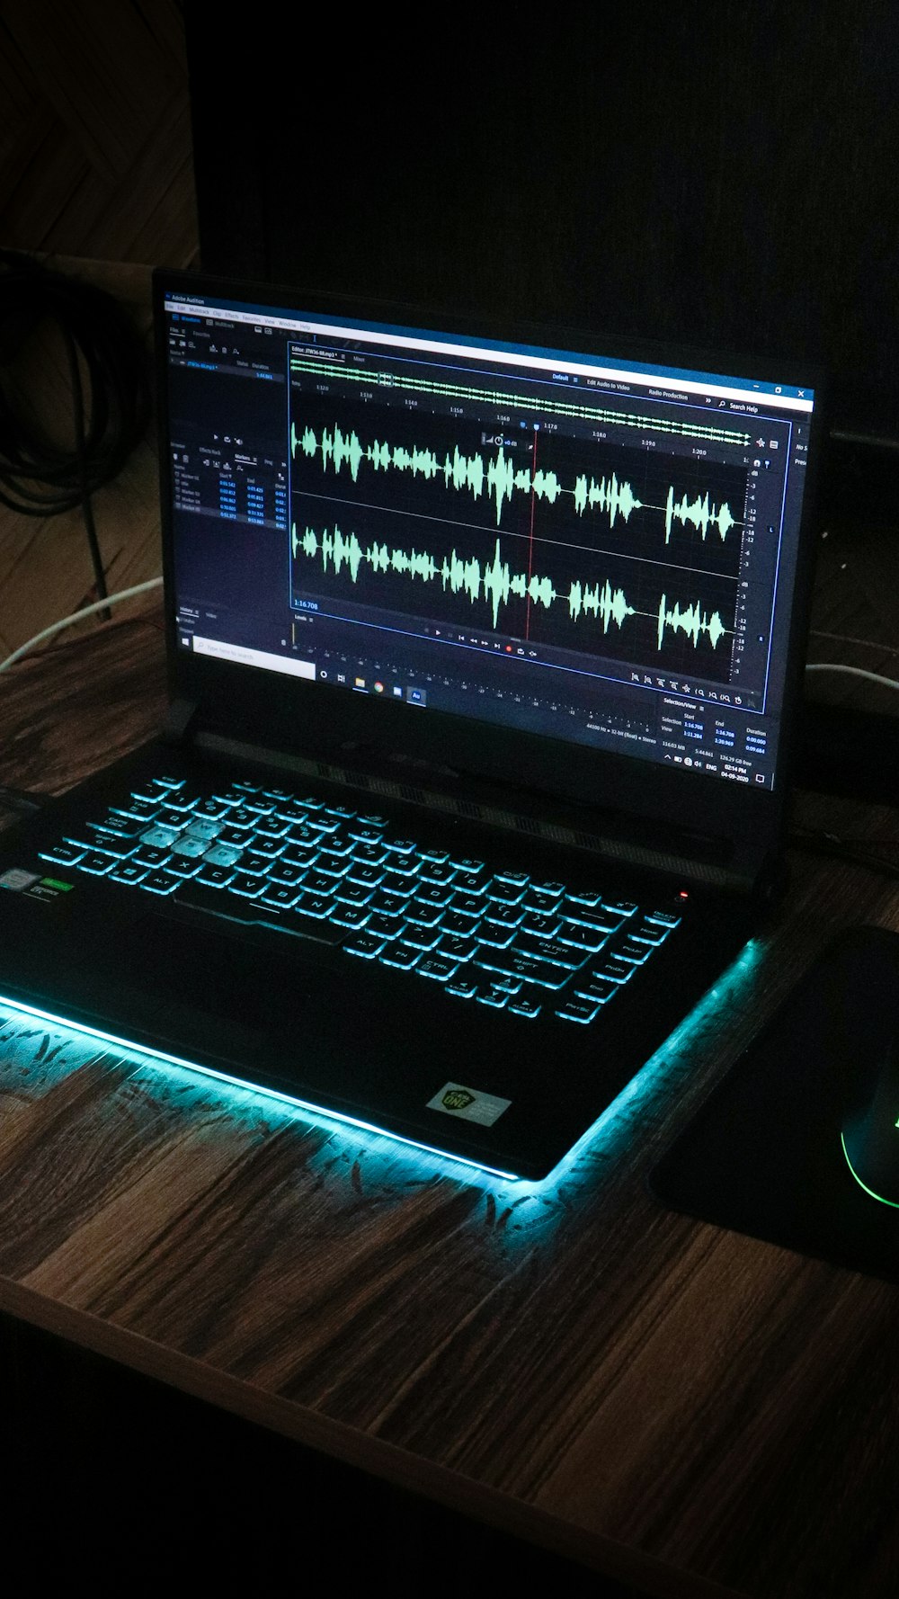
[[[66,349],[72,448],[22,414],[5,371],[43,321],[56,323]],[[107,587],[91,494],[122,470],[149,411],[147,352],[126,310],[93,283],[0,249],[0,504],[24,516],[80,505],[101,600]]]

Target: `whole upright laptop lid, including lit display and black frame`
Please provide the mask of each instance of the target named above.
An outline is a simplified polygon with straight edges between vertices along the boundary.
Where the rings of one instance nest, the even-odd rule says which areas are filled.
[[[205,737],[757,881],[808,373],[187,273],[155,296],[171,689]]]

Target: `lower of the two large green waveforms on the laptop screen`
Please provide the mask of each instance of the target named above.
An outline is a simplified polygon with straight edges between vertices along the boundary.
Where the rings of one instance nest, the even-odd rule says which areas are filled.
[[[619,628],[624,627],[629,616],[653,616],[657,620],[659,649],[662,648],[665,627],[688,633],[693,638],[694,648],[699,643],[699,635],[704,633],[713,649],[718,640],[728,632],[717,611],[707,616],[697,603],[688,606],[685,611],[677,603],[669,609],[665,595],[662,595],[657,617],[656,612],[637,611],[629,603],[624,590],[613,588],[608,577],[605,582],[592,585],[574,579],[566,593],[560,592],[553,587],[550,577],[541,577],[536,572],[529,576],[526,572],[513,572],[509,563],[502,560],[499,539],[494,545],[493,560],[485,566],[481,566],[477,556],[462,560],[456,550],[448,556],[435,558],[424,550],[392,550],[387,544],[378,544],[376,540],[368,548],[363,548],[355,532],[347,536],[339,528],[334,528],[333,532],[325,529],[322,534],[317,534],[314,528],[306,528],[301,537],[296,523],[293,524],[291,547],[294,560],[301,553],[309,560],[320,558],[325,571],[331,568],[334,576],[339,577],[346,569],[354,584],[358,582],[360,568],[366,564],[374,572],[395,572],[397,576],[418,579],[426,584],[440,582],[443,592],[450,590],[454,595],[467,593],[472,604],[483,600],[491,608],[494,632],[499,625],[499,609],[509,604],[510,598],[529,600],[533,604],[542,604],[545,609],[557,600],[563,600],[568,603],[568,614],[573,622],[581,616],[590,614],[597,622],[601,622],[603,633],[608,633],[613,622]]]

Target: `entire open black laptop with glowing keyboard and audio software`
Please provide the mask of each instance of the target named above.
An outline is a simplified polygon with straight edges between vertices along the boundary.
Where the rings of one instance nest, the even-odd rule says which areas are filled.
[[[171,705],[0,1001],[542,1178],[781,886],[816,390],[158,273]]]

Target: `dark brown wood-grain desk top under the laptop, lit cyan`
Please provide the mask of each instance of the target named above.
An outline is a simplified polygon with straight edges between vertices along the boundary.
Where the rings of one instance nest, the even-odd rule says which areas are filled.
[[[2,780],[152,731],[125,622],[0,680]],[[899,839],[894,812],[805,819]],[[561,1180],[502,1191],[43,1027],[0,1027],[0,1311],[646,1593],[899,1589],[899,1295],[645,1177],[830,931],[899,892],[797,855],[720,1003]]]

